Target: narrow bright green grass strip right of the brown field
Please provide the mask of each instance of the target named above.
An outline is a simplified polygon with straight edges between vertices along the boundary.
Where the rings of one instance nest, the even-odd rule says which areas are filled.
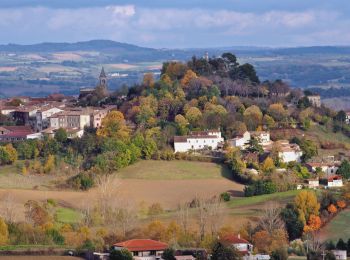
[[[299,190],[291,190],[286,192],[277,192],[273,194],[266,194],[260,196],[253,197],[244,197],[244,198],[233,198],[231,201],[227,202],[227,206],[229,208],[236,208],[242,206],[252,206],[256,204],[262,204],[268,201],[275,202],[288,202],[292,200],[297,194]]]

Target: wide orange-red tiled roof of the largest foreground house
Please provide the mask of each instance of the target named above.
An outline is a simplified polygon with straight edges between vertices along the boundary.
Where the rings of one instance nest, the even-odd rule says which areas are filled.
[[[152,239],[131,239],[116,243],[114,246],[126,248],[130,252],[151,250],[161,251],[168,248],[168,244]]]

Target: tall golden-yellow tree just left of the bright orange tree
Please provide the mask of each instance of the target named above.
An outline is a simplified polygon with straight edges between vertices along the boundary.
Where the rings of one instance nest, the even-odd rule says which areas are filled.
[[[299,212],[299,218],[306,224],[311,215],[318,216],[320,204],[317,201],[317,196],[313,191],[301,191],[295,198],[294,203]]]

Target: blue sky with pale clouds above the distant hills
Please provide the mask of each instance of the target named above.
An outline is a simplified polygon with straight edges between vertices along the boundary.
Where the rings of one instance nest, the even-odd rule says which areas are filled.
[[[0,43],[350,45],[349,0],[0,0]]]

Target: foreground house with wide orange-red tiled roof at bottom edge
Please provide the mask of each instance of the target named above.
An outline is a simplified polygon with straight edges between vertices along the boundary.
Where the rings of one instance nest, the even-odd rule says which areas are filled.
[[[131,239],[113,245],[115,250],[127,249],[134,259],[156,260],[161,259],[168,245],[151,239]]]

